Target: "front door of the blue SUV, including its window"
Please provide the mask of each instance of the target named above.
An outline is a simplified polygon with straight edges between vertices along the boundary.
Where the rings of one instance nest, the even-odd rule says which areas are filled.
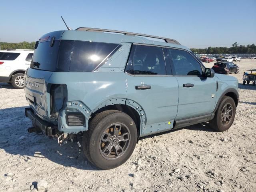
[[[176,120],[211,114],[216,102],[216,80],[202,74],[202,65],[186,50],[168,49],[172,73],[179,84]]]

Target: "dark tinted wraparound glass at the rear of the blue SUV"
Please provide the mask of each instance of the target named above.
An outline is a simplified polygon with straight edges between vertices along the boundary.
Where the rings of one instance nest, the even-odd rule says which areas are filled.
[[[38,44],[30,68],[59,72],[91,72],[118,44],[86,42],[75,40],[55,40]]]

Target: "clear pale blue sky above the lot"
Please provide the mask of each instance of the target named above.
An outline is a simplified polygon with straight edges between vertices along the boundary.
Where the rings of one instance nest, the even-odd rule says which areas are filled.
[[[189,48],[256,43],[256,0],[8,0],[0,41],[36,41],[80,26],[164,36]]]

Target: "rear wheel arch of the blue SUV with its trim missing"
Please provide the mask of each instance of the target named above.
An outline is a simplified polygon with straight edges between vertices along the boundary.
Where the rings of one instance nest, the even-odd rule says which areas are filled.
[[[108,100],[106,102],[103,102],[100,104],[97,108],[92,110],[91,118],[88,121],[88,124],[90,121],[100,112],[106,111],[106,110],[118,110],[121,112],[126,113],[132,120],[134,120],[134,123],[136,124],[138,137],[140,136],[140,130],[142,125],[142,116],[144,115],[144,110],[142,107],[135,107],[132,104],[129,104],[130,100],[121,99],[121,98],[114,98],[111,100]],[[134,102],[133,102],[134,104]],[[141,115],[143,114],[143,115]]]

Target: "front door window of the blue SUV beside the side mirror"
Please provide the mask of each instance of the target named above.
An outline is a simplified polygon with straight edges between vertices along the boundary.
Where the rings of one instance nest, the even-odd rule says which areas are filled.
[[[171,48],[169,51],[172,56],[174,75],[202,75],[200,63],[190,53]]]

